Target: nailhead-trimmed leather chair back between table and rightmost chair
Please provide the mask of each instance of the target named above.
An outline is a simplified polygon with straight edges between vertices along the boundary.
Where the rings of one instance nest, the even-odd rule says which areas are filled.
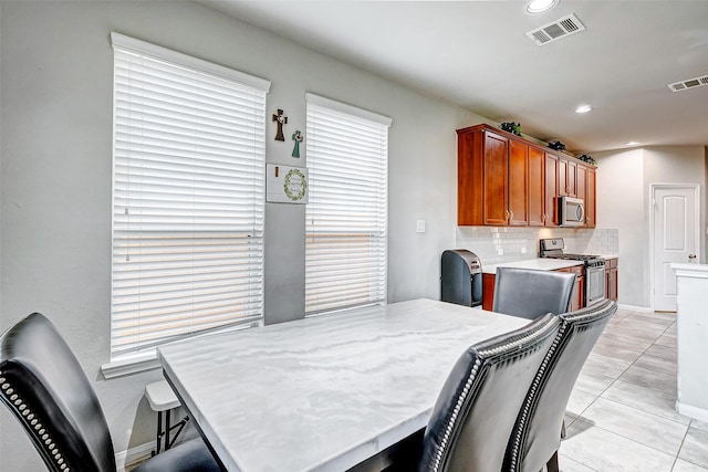
[[[519,409],[559,325],[548,314],[462,354],[433,408],[420,472],[501,470]]]

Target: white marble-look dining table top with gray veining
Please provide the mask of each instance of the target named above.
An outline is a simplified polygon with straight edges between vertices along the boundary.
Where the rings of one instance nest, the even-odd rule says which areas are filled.
[[[467,347],[527,323],[414,300],[158,353],[229,471],[344,471],[427,424]]]

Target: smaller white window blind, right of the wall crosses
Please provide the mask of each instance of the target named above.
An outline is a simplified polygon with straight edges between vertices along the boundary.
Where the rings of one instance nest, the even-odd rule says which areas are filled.
[[[391,118],[306,103],[305,312],[385,303]]]

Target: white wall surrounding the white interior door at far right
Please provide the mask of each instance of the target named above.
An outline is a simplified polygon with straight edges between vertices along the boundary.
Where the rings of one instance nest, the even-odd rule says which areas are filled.
[[[650,185],[699,183],[705,196],[705,147],[634,148],[593,153],[593,157],[598,162],[597,224],[620,230],[620,303],[649,308],[653,303]],[[705,209],[701,227],[705,227],[704,214]],[[705,249],[704,234],[701,231],[700,245]]]

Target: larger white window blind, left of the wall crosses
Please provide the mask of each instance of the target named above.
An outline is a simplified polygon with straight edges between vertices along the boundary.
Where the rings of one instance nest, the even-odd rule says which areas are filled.
[[[261,319],[270,83],[112,41],[113,360]]]

